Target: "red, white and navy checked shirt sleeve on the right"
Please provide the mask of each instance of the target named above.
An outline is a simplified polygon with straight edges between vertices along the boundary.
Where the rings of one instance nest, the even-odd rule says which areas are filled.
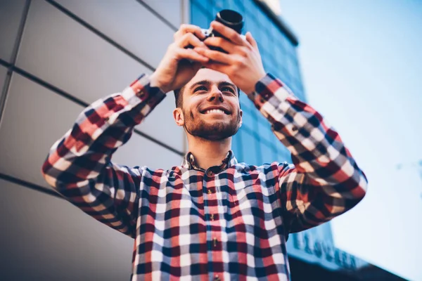
[[[324,117],[271,74],[255,90],[249,98],[293,161],[279,164],[276,171],[286,233],[318,226],[361,201],[367,178]]]

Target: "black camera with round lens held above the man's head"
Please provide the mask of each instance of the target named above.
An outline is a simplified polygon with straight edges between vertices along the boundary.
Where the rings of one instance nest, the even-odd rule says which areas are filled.
[[[223,25],[226,25],[226,27],[230,27],[232,30],[238,32],[238,34],[242,34],[243,25],[245,23],[243,20],[243,16],[240,13],[227,9],[219,11],[217,15],[215,15],[215,21],[221,22]],[[209,30],[201,30],[205,35],[205,39],[207,39],[208,37],[223,37],[222,34],[219,34],[215,30],[212,30],[211,27]],[[244,35],[241,36],[244,37]],[[224,51],[222,48],[210,46],[210,49],[226,53],[226,51]]]

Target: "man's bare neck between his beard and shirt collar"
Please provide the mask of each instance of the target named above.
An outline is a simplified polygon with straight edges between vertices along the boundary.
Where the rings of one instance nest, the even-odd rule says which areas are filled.
[[[188,134],[188,151],[195,157],[196,164],[202,169],[222,164],[231,149],[231,137],[222,141],[208,141]]]

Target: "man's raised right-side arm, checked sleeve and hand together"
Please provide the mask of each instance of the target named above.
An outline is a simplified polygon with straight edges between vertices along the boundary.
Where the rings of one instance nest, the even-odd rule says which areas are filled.
[[[212,22],[222,37],[205,40],[226,53],[196,47],[210,58],[207,67],[226,73],[245,92],[290,150],[293,164],[277,166],[276,194],[289,232],[317,226],[354,207],[365,195],[367,179],[349,150],[324,118],[296,98],[271,74],[265,74],[257,42]]]

